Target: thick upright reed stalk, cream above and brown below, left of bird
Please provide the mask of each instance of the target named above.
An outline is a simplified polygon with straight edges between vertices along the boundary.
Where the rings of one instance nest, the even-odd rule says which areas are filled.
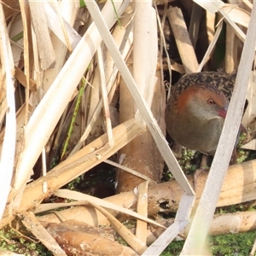
[[[155,84],[157,63],[155,11],[150,1],[138,2],[134,8],[136,11],[133,27],[133,51],[132,58],[130,57],[127,62],[131,63],[129,69],[143,98],[148,103],[148,107],[151,108],[155,119],[161,123],[163,115],[160,115],[160,112],[162,108],[165,108],[162,104],[165,102],[165,90],[160,83]],[[120,80],[119,94],[120,121],[136,116],[137,106],[123,79]],[[165,132],[165,129],[162,131]],[[120,150],[119,162],[122,162],[123,166],[129,166],[131,169],[141,172],[155,182],[160,181],[163,160],[148,130]],[[137,187],[142,183],[142,179],[134,177],[131,172],[119,170],[117,183],[117,191],[124,192]]]

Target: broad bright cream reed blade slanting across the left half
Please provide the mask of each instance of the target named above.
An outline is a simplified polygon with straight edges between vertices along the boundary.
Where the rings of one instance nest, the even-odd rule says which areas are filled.
[[[119,6],[121,3],[117,4]],[[103,16],[106,16],[108,26],[113,26],[115,18],[112,4],[106,3],[102,13]],[[91,24],[84,34],[83,40],[80,40],[79,45],[74,49],[73,54],[70,55],[55,82],[32,114],[26,128],[26,148],[20,160],[20,166],[17,168],[20,175],[15,181],[15,189],[20,193],[22,193],[20,188],[26,184],[30,176],[30,173],[25,175],[24,172],[32,170],[36,160],[38,160],[42,148],[44,148],[50,134],[55,129],[67,102],[73,95],[73,91],[79,84],[84,70],[90,63],[92,55],[101,41],[102,38],[97,32],[95,24]],[[79,65],[76,65],[76,63],[79,63]],[[17,201],[17,205],[19,205],[19,201]]]

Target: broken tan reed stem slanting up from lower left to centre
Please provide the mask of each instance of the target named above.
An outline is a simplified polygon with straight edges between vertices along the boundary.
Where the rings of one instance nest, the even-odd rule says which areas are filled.
[[[97,138],[94,142],[82,148],[72,157],[64,160],[49,171],[45,177],[40,177],[36,181],[28,184],[22,195],[20,208],[14,210],[13,214],[17,211],[23,212],[27,209],[35,207],[44,200],[45,197],[51,195],[56,189],[72,181],[75,177],[79,177],[82,173],[90,170],[93,166],[101,163],[103,160],[108,159],[111,155],[129,143],[134,137],[144,131],[144,127],[137,123],[137,120],[131,119],[124,124],[113,128],[113,147],[108,146],[108,137],[106,134]],[[68,172],[67,172],[68,171]],[[48,183],[48,191],[42,191],[42,183]],[[3,227],[8,224],[9,219],[14,216],[9,216],[9,208],[6,207],[5,215],[0,223]]]

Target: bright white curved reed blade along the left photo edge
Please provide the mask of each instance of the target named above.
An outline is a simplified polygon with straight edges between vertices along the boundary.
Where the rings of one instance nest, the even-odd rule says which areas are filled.
[[[14,79],[15,64],[9,43],[9,34],[5,23],[3,5],[0,3],[0,56],[2,71],[0,80],[5,85],[6,98],[6,121],[3,138],[3,148],[0,158],[0,219],[2,219],[5,204],[9,195],[10,183],[13,175],[15,161],[15,143],[16,143],[16,116],[15,116],[15,94]],[[3,79],[4,77],[4,79]],[[4,91],[4,87],[3,87]],[[3,100],[4,102],[4,100]],[[3,105],[4,106],[4,105]]]

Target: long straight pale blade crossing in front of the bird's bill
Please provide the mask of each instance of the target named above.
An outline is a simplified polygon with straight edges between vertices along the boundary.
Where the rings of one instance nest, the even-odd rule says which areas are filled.
[[[224,121],[218,148],[212,162],[201,201],[195,212],[189,236],[185,241],[181,255],[195,255],[201,253],[207,238],[209,226],[218,201],[218,196],[224,182],[226,170],[230,163],[232,150],[241,124],[241,114],[247,93],[247,84],[254,58],[256,42],[256,2],[253,3],[251,20],[247,29],[247,38],[243,46],[241,61],[236,76],[236,84],[230,101],[229,110]],[[201,229],[199,230],[199,228]],[[196,241],[197,240],[197,241]],[[199,243],[198,243],[199,241]],[[199,247],[194,247],[198,244]]]

